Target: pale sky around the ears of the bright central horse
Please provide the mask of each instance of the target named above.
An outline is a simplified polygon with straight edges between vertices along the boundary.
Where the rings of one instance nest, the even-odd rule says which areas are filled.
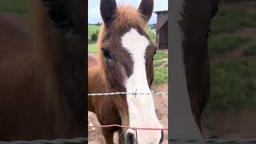
[[[141,0],[116,0],[116,2],[122,4],[128,4],[138,7]],[[88,0],[88,23],[102,22],[100,15],[100,0]],[[154,11],[168,10],[168,0],[154,0]],[[157,14],[152,14],[150,18],[150,24],[157,22]]]

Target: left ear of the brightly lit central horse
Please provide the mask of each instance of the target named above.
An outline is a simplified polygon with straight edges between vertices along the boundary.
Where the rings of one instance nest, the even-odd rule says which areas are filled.
[[[106,26],[110,26],[114,20],[115,10],[117,9],[117,3],[115,0],[102,0],[101,1],[101,15],[103,22]]]

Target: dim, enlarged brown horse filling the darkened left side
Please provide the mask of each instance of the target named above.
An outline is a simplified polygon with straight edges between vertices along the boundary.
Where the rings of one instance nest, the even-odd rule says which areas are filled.
[[[30,0],[0,14],[0,140],[86,135],[85,1]]]

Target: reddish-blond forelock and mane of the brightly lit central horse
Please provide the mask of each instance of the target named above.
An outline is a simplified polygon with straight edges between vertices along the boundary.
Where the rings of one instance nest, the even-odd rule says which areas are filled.
[[[132,26],[137,26],[141,30],[146,30],[146,18],[142,16],[133,6],[123,6],[119,5],[117,7],[116,13],[114,14],[114,21],[111,23],[109,27],[111,30],[126,30]],[[106,74],[104,73],[105,66],[103,64],[103,55],[101,53],[102,39],[104,37],[106,30],[106,26],[104,22],[102,22],[102,26],[100,28],[98,34],[98,42],[97,42],[97,51],[98,51],[98,64],[99,69],[102,71],[102,82],[107,85],[106,82]]]

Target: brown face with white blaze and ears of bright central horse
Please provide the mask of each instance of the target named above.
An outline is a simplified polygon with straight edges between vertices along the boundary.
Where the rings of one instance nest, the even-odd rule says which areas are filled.
[[[153,0],[142,1],[137,10],[102,0],[104,26],[100,34],[100,56],[106,80],[112,89],[126,91],[126,96],[112,97],[122,125],[162,128],[150,92],[153,82],[153,59],[158,48],[143,30],[153,11]],[[134,130],[126,130],[126,142],[134,143]],[[162,142],[162,130],[138,130],[138,143]]]

